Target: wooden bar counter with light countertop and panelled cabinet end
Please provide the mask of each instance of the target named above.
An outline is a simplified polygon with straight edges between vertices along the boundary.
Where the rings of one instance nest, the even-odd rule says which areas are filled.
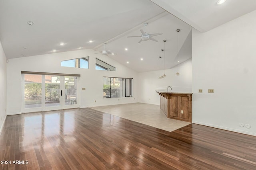
[[[160,95],[160,109],[166,117],[192,122],[192,93],[156,92]]]

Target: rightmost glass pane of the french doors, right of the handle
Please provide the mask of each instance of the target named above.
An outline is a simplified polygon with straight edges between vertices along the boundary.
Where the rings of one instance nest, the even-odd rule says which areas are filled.
[[[65,105],[77,104],[77,77],[65,76]]]

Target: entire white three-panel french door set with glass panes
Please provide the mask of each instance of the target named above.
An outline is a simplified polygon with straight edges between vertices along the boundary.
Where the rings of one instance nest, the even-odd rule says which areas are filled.
[[[79,76],[22,74],[24,113],[77,108]]]

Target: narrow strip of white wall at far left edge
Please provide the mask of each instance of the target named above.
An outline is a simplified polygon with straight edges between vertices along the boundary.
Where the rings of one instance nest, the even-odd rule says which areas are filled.
[[[0,134],[6,119],[6,57],[0,42]]]

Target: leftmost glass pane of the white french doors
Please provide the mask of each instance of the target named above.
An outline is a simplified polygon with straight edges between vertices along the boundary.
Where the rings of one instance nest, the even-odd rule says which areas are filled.
[[[42,107],[42,75],[24,74],[25,108]]]

